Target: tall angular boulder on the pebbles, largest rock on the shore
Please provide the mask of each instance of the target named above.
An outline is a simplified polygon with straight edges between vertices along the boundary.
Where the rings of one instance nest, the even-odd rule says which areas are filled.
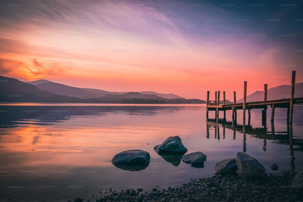
[[[236,162],[238,175],[241,178],[255,180],[267,177],[266,170],[262,164],[248,154],[238,152],[236,155]]]

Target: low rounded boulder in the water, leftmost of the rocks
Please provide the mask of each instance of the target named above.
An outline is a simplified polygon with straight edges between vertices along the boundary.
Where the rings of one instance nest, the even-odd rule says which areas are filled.
[[[123,170],[137,171],[145,169],[149,164],[147,151],[135,149],[122,151],[112,158],[112,164]]]

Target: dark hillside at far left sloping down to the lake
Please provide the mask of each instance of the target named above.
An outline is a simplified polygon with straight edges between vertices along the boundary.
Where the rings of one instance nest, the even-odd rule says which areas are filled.
[[[0,102],[75,102],[76,99],[55,95],[14,78],[0,76]]]

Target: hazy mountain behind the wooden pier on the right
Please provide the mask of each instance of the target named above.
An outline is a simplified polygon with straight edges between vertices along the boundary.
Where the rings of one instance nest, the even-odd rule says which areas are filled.
[[[267,100],[280,100],[290,98],[291,85],[281,85],[267,89]],[[303,83],[295,84],[295,98],[303,97]],[[246,101],[263,101],[264,91],[255,91],[254,93],[246,96]],[[243,98],[237,103],[243,102]]]

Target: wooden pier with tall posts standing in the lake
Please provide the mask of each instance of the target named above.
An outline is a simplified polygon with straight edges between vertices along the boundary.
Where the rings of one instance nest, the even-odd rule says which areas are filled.
[[[267,84],[264,84],[264,101],[246,102],[246,89],[247,81],[244,81],[244,96],[243,103],[236,103],[236,92],[234,91],[234,104],[225,104],[225,91],[223,91],[223,104],[220,105],[220,91],[215,92],[215,100],[209,100],[209,91],[207,91],[207,104],[206,104],[206,119],[208,121],[208,111],[215,111],[216,123],[219,121],[219,111],[232,110],[232,125],[237,123],[237,110],[243,110],[243,133],[245,133],[245,116],[246,110],[248,110],[248,125],[250,125],[250,110],[251,109],[263,109],[262,110],[262,125],[266,128],[266,112],[268,105],[271,107],[271,125],[273,127],[275,108],[287,108],[287,125],[292,131],[292,117],[294,104],[303,103],[303,98],[295,98],[295,75],[296,72],[292,71],[291,77],[291,92],[290,98],[281,100],[267,100]],[[218,97],[217,97],[218,96]]]

